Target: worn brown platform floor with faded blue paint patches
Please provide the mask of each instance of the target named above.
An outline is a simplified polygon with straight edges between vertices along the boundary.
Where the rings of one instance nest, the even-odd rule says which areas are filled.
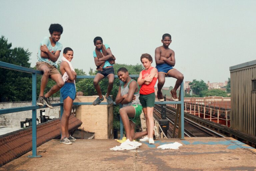
[[[178,150],[162,150],[162,144],[179,142]],[[256,149],[233,138],[160,139],[154,145],[142,143],[137,150],[111,151],[120,145],[113,139],[78,139],[72,145],[53,139],[32,152],[0,167],[0,171],[204,171],[256,169]]]

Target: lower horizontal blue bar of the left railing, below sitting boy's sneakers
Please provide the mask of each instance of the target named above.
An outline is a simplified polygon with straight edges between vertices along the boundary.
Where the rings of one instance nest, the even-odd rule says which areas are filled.
[[[55,106],[62,106],[62,105],[63,105],[63,103],[54,103],[54,104],[52,104],[53,107],[55,107]],[[0,115],[7,114],[7,113],[14,113],[14,112],[22,112],[22,111],[27,111],[27,110],[34,110],[34,109],[42,109],[42,108],[47,108],[47,106],[46,105],[44,105],[44,106],[32,105],[32,106],[0,109]]]

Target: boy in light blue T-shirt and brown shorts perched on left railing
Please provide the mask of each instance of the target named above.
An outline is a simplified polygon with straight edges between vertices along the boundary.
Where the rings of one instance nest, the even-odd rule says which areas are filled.
[[[62,76],[57,70],[58,65],[56,62],[62,49],[62,44],[58,41],[60,40],[63,28],[60,24],[51,24],[49,32],[51,36],[43,39],[39,45],[37,53],[38,62],[36,63],[36,69],[44,73],[41,79],[40,94],[37,100],[37,105],[43,106],[45,103],[52,109],[53,107],[49,97],[59,91],[64,85]],[[52,86],[50,91],[44,95],[44,89],[48,83],[49,77],[56,82],[56,85]]]

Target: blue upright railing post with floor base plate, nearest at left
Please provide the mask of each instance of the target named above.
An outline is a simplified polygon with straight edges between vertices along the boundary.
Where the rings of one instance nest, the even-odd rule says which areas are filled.
[[[32,105],[36,106],[36,74],[32,74]],[[32,110],[32,155],[28,157],[42,157],[36,155],[36,109]]]

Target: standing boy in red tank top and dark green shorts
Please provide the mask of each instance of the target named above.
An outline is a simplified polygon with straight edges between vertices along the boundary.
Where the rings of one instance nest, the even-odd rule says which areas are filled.
[[[140,141],[149,141],[149,144],[154,144],[153,139],[153,130],[156,129],[154,127],[154,118],[153,118],[153,110],[155,106],[155,84],[158,77],[157,69],[151,66],[153,62],[152,56],[145,53],[140,57],[141,63],[145,67],[145,70],[140,72],[138,78],[138,84],[141,86],[140,88],[140,103],[142,105],[142,110],[146,117],[146,125],[148,135]],[[156,130],[154,130],[157,132]]]

